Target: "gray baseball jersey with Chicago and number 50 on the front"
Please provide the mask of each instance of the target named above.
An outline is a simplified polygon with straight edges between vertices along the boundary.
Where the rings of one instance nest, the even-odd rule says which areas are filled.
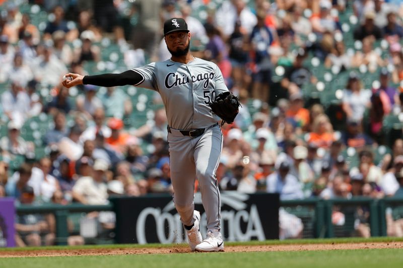
[[[218,94],[228,91],[216,64],[194,58],[187,64],[166,60],[132,70],[143,76],[135,86],[159,92],[170,127],[206,128],[220,120],[208,105]]]

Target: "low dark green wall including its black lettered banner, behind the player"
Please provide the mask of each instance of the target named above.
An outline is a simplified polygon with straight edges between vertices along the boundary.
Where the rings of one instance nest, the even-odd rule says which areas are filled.
[[[380,200],[313,198],[278,202],[276,195],[223,193],[222,231],[225,239],[227,241],[285,239],[290,237],[284,236],[284,230],[289,232],[301,226],[301,232],[295,232],[294,238],[350,237],[358,236],[359,224],[366,226],[371,236],[386,236],[391,234],[388,230],[391,221],[392,223],[403,221],[401,198]],[[203,215],[201,231],[204,232],[206,219],[198,194],[195,195],[195,208]],[[18,206],[16,210],[17,215],[53,214],[56,222],[56,244],[66,244],[72,234],[84,236],[86,243],[91,244],[184,241],[183,228],[169,195],[114,198],[110,204],[102,206],[81,204]],[[4,206],[0,206],[0,215],[5,219],[3,211]],[[109,229],[106,235],[100,232],[99,224],[88,217],[88,213],[94,211],[116,213],[116,225],[113,229]],[[282,218],[284,212],[292,217]],[[69,228],[71,222],[75,226],[73,231]],[[12,242],[9,245],[12,245]]]

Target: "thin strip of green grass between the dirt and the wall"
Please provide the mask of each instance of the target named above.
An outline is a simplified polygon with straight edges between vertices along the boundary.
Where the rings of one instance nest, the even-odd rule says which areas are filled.
[[[371,237],[371,238],[316,238],[316,239],[289,239],[289,240],[266,240],[266,241],[248,241],[248,242],[225,242],[226,245],[290,245],[290,244],[330,244],[330,243],[364,243],[364,242],[403,242],[403,238],[397,237]],[[108,245],[83,245],[83,246],[42,246],[42,247],[16,247],[0,248],[2,251],[19,250],[66,250],[66,249],[85,249],[85,248],[150,248],[150,247],[170,247],[173,244],[108,244]],[[187,247],[187,244],[183,244]],[[1,253],[0,253],[1,254]],[[1,266],[0,266],[1,268]]]

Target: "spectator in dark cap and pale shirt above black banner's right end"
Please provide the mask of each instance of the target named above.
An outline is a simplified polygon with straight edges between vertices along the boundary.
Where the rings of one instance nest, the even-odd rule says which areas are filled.
[[[267,177],[267,193],[278,193],[281,200],[302,199],[304,194],[301,184],[289,171],[290,163],[283,161],[279,170]]]

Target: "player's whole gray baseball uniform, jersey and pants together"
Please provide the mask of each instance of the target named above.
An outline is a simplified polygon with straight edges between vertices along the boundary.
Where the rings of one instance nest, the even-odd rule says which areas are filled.
[[[158,91],[167,113],[173,200],[181,221],[194,222],[193,192],[197,178],[201,200],[206,210],[208,230],[220,230],[220,191],[215,177],[223,135],[215,123],[208,103],[228,91],[223,75],[212,62],[194,58],[187,64],[166,60],[132,69],[143,76],[136,86]],[[212,126],[214,125],[214,126]],[[212,127],[210,127],[212,126]],[[178,130],[205,128],[196,138],[183,136]]]

